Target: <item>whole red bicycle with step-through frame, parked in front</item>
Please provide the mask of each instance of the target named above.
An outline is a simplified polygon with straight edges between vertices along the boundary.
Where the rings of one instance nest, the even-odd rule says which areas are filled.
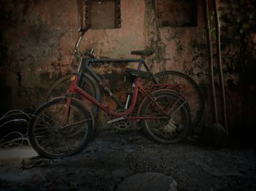
[[[126,69],[132,77],[132,99],[123,112],[116,112],[100,103],[79,86],[79,75],[72,79],[69,93],[65,97],[46,102],[31,117],[29,141],[39,155],[48,158],[67,157],[80,152],[89,143],[94,127],[91,111],[74,97],[80,95],[113,117],[113,122],[140,121],[151,138],[170,144],[181,141],[189,133],[191,114],[187,100],[174,91],[177,85],[146,85],[141,79],[151,77],[150,71]],[[136,102],[140,95],[138,111]],[[142,99],[141,99],[142,98]],[[142,101],[141,101],[142,100]]]

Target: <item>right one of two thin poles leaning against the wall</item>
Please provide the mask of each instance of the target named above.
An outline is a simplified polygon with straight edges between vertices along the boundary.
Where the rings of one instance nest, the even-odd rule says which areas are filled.
[[[226,107],[226,98],[225,98],[225,87],[224,87],[224,79],[222,72],[222,54],[220,50],[220,28],[219,28],[219,16],[217,10],[217,1],[214,0],[214,16],[215,16],[215,26],[217,31],[217,61],[218,61],[218,70],[219,70],[219,82],[221,86],[222,93],[222,122],[225,125],[225,130],[228,136],[227,130],[227,107]]]

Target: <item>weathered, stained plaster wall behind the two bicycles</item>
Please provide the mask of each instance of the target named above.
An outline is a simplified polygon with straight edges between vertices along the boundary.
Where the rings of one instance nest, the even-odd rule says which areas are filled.
[[[232,15],[232,4],[222,2],[219,9],[222,14],[222,58],[230,127],[246,121],[241,117],[246,115],[244,112],[251,111],[252,108],[246,104],[253,100],[252,94],[245,93],[246,88],[255,88],[255,85],[247,83],[252,81],[245,78],[246,75],[242,77],[246,69],[240,65],[243,58],[239,58],[243,52],[241,39],[252,47],[252,50],[247,48],[245,51],[246,58],[255,53],[255,32],[250,31],[248,35],[238,33],[238,37],[230,35],[238,30],[233,28],[232,22],[225,20],[225,16]],[[206,122],[211,122],[203,0],[197,4],[195,27],[158,27],[155,7],[154,0],[121,0],[121,28],[90,29],[80,50],[94,47],[95,54],[102,57],[132,58],[130,50],[157,47],[154,55],[147,58],[151,68],[155,72],[164,69],[184,71],[195,79],[206,98]],[[67,74],[77,37],[76,8],[76,1],[70,0],[2,1],[0,72],[1,89],[5,92],[1,95],[2,112],[10,108],[32,111],[42,103],[50,85]],[[113,87],[121,87],[123,68],[101,66],[98,71],[113,82]],[[120,80],[111,80],[116,76]],[[217,76],[216,85],[219,93]],[[255,89],[252,91],[255,93]]]

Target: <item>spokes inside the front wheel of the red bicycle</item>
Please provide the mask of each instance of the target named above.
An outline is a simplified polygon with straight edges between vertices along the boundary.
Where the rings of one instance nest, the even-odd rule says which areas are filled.
[[[48,107],[37,115],[34,138],[37,144],[50,155],[69,155],[79,147],[91,117],[85,117],[79,109],[69,104]],[[64,117],[65,116],[65,117]],[[64,120],[63,120],[64,119]]]

